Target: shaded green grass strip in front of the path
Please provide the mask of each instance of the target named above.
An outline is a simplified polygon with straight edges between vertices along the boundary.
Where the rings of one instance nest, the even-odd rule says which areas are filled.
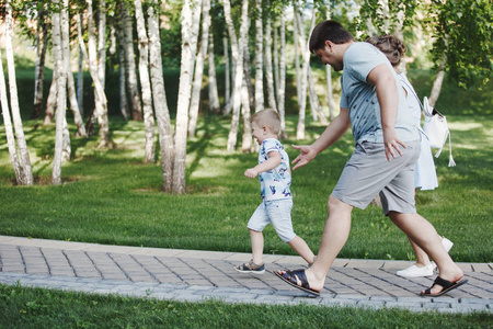
[[[491,315],[180,303],[0,285],[1,328],[491,328]]]

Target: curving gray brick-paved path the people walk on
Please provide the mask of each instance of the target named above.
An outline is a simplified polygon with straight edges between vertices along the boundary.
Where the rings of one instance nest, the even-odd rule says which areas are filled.
[[[271,271],[303,268],[299,257],[266,256],[264,275],[240,274],[249,253],[79,243],[0,236],[0,283],[174,300],[401,307],[413,311],[493,310],[493,263],[459,263],[469,283],[439,298],[420,297],[434,277],[403,279],[406,261],[337,259],[321,297]]]

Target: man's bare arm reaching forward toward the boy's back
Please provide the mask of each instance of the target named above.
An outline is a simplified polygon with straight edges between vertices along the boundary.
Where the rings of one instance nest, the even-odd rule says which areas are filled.
[[[339,140],[344,133],[351,127],[349,110],[341,107],[341,113],[332,121],[332,123],[325,128],[323,134],[317,138],[311,145],[293,145],[293,148],[300,150],[298,157],[293,160],[293,170],[302,167],[313,160],[318,154],[330,147],[332,144]]]

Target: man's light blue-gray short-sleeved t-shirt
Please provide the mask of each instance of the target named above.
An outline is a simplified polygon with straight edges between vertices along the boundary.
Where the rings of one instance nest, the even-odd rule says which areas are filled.
[[[366,81],[368,73],[385,64],[395,78],[399,92],[399,107],[395,131],[402,141],[419,140],[420,135],[412,113],[408,110],[404,91],[387,57],[369,43],[353,43],[344,54],[341,77],[341,107],[349,110],[351,125],[356,143],[383,143],[380,105],[374,84]]]

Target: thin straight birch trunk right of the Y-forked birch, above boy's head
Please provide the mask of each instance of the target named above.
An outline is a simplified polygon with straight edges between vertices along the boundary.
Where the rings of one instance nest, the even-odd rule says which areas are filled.
[[[264,63],[263,63],[263,22],[262,0],[255,1],[255,112],[264,110]]]

